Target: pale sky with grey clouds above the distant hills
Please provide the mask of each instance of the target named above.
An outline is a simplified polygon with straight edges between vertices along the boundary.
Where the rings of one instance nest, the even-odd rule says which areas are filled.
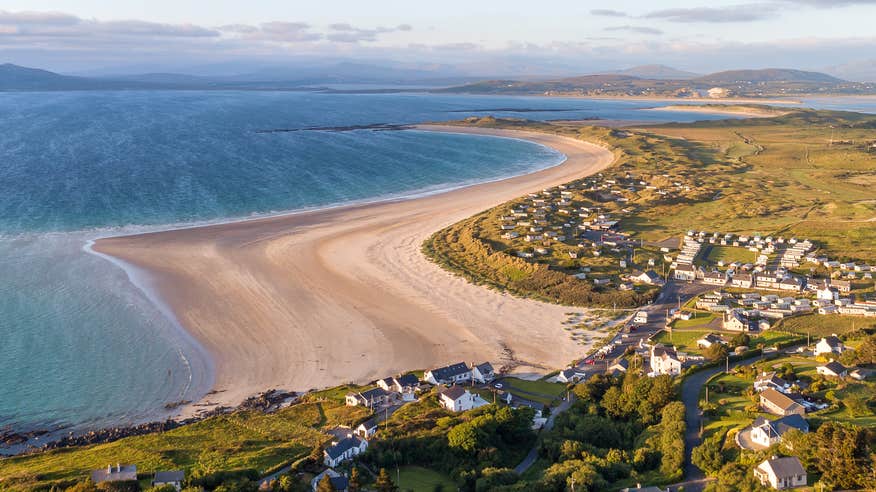
[[[876,65],[876,0],[2,0],[0,63],[242,72],[339,60],[468,75]]]

